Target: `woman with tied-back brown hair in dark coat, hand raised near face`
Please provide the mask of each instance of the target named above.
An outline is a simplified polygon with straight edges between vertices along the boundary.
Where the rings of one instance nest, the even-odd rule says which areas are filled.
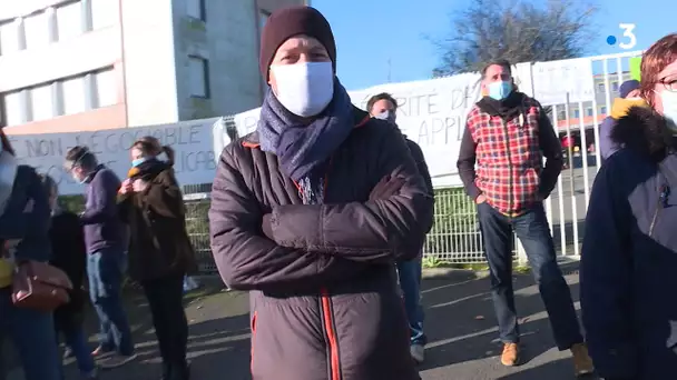
[[[148,298],[163,357],[163,379],[189,378],[188,321],[184,276],[195,267],[186,231],[186,210],[174,174],[174,150],[154,137],[130,149],[133,168],[119,193],[120,216],[129,224],[129,273]],[[157,157],[164,152],[167,161]]]

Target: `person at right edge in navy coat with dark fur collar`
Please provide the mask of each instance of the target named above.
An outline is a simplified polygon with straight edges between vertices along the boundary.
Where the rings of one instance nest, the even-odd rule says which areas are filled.
[[[677,33],[641,59],[641,98],[611,131],[622,147],[595,178],[580,297],[607,380],[677,378]]]

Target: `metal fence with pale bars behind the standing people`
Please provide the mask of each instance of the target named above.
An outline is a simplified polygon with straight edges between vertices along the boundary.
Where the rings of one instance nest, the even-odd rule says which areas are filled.
[[[570,139],[575,141],[566,147],[566,168],[559,177],[557,187],[544,202],[555,248],[560,256],[571,258],[580,256],[590,189],[600,164],[599,124],[611,113],[620,83],[631,78],[630,59],[640,54],[640,51],[632,51],[586,58],[592,69],[592,78],[590,78],[593,83],[592,97],[588,101],[569,102],[567,96],[565,103],[543,104],[548,106],[549,116],[558,134],[561,138],[567,137],[567,141]],[[529,72],[522,78],[523,86],[520,84],[520,90],[533,94],[532,73]],[[234,120],[229,121],[233,126],[225,130],[234,133],[236,131]],[[208,186],[194,188],[186,193],[188,227],[199,254],[200,268],[204,271],[214,271],[206,211],[209,207]],[[435,190],[434,219],[434,226],[428,234],[424,247],[426,258],[453,263],[484,261],[475,206],[462,189]],[[524,261],[526,254],[514,238],[513,248],[516,258]]]

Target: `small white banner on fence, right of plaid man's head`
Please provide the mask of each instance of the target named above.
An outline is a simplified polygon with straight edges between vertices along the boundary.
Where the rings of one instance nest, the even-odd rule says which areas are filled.
[[[543,106],[592,101],[592,63],[587,58],[536,62],[531,71],[534,98]]]

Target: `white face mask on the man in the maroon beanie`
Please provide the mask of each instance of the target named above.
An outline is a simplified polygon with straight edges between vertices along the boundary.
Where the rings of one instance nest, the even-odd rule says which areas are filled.
[[[332,62],[273,64],[271,70],[277,84],[275,97],[296,116],[320,114],[334,97]]]

